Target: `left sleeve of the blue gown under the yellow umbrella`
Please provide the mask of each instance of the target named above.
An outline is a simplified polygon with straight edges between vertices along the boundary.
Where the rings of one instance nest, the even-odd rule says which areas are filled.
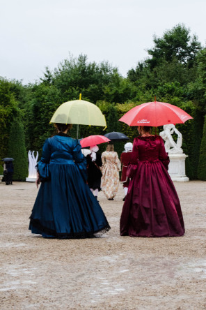
[[[40,174],[40,179],[42,182],[47,181],[50,177],[49,174],[49,161],[50,161],[51,151],[49,148],[49,140],[45,140],[45,144],[42,148],[42,157],[36,168]]]

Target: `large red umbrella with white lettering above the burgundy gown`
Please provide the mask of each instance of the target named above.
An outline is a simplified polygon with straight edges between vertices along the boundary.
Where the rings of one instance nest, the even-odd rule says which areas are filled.
[[[119,121],[123,121],[129,126],[157,127],[166,124],[182,124],[192,118],[175,105],[154,101],[132,108]]]

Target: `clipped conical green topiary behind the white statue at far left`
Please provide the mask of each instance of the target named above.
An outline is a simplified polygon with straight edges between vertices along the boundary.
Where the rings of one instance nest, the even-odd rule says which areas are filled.
[[[13,179],[25,181],[28,176],[28,160],[25,146],[24,126],[20,119],[15,119],[10,127],[8,157],[14,158]]]

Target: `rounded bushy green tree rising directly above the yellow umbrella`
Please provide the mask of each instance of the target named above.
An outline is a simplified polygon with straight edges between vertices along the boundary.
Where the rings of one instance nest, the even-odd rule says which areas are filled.
[[[63,95],[63,102],[78,99],[81,93],[85,100],[96,103],[103,98],[104,86],[116,71],[108,62],[88,62],[83,54],[78,58],[70,56],[54,69],[54,85]]]

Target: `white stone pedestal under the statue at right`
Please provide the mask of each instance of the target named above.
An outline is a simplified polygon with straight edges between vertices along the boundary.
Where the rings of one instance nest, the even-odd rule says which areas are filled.
[[[185,154],[168,154],[170,158],[168,173],[173,181],[188,182],[189,177],[185,175]]]

